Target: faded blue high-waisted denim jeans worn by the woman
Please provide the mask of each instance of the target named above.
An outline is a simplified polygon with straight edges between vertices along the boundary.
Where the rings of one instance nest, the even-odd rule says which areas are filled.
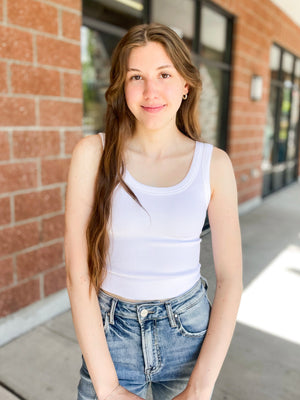
[[[207,285],[168,300],[121,301],[100,290],[104,332],[120,385],[146,398],[171,400],[181,393],[197,361],[209,322]],[[96,400],[84,358],[77,400]]]

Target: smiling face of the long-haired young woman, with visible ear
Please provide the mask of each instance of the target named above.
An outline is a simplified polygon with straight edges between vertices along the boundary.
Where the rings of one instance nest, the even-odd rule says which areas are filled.
[[[125,97],[136,118],[136,129],[176,129],[176,113],[188,85],[157,42],[132,49]]]

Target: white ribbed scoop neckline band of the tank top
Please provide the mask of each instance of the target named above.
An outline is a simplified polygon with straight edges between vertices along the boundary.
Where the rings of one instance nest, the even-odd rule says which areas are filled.
[[[131,175],[131,173],[129,172],[129,170],[127,169],[126,166],[125,166],[125,180],[129,184],[131,184],[133,187],[139,189],[142,192],[147,192],[147,193],[152,193],[152,194],[167,194],[167,193],[180,192],[180,191],[184,190],[187,186],[190,185],[190,183],[192,182],[192,180],[195,176],[195,173],[197,172],[196,164],[197,164],[197,158],[198,158],[198,154],[199,154],[199,145],[200,145],[200,142],[195,140],[195,149],[194,149],[194,154],[193,154],[190,168],[189,168],[187,174],[185,175],[185,177],[180,182],[178,182],[176,185],[173,185],[173,186],[146,185],[146,184],[138,181],[137,179],[135,179]]]

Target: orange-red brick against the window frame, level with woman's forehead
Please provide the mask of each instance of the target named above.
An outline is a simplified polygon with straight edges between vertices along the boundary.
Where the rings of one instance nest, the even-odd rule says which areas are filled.
[[[37,37],[38,63],[80,70],[80,45],[44,36]]]

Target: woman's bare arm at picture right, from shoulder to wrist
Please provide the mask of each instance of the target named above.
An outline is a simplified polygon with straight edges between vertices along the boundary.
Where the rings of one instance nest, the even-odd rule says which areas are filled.
[[[211,398],[232,339],[243,289],[236,181],[228,155],[215,147],[210,166],[210,184],[212,193],[208,217],[216,292],[207,333],[187,388],[179,395],[184,396],[181,400]]]

